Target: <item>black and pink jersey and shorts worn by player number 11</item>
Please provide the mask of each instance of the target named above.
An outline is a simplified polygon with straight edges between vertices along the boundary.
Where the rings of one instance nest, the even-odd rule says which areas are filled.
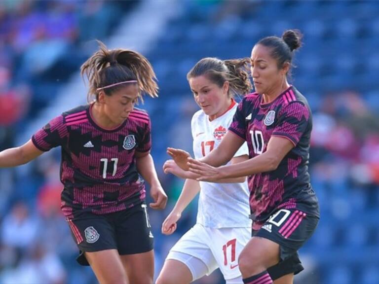
[[[61,146],[61,209],[82,252],[149,251],[153,237],[145,183],[134,156],[151,149],[149,115],[134,108],[121,125],[103,129],[91,116],[92,106],[57,116],[32,141],[42,151]],[[83,255],[78,262],[88,265]]]

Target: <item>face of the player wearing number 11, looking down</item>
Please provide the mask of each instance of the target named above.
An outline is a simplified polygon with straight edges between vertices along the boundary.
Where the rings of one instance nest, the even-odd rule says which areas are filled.
[[[127,84],[104,96],[104,112],[115,124],[124,122],[138,100],[138,84]]]

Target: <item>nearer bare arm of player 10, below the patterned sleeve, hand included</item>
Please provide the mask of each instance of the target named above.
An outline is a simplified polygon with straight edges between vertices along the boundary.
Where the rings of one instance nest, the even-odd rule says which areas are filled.
[[[237,178],[276,170],[285,155],[294,147],[287,138],[273,136],[267,150],[247,161],[215,168],[197,160],[189,159],[190,171],[199,175],[197,180],[213,181],[219,178]]]

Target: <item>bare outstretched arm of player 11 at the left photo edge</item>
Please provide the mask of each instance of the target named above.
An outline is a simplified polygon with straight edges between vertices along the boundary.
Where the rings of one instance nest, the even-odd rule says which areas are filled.
[[[32,140],[24,145],[9,148],[0,152],[0,168],[15,167],[26,164],[41,155],[43,151],[39,150]]]

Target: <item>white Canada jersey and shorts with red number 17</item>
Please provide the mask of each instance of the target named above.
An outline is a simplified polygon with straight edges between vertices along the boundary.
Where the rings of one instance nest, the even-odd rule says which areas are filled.
[[[193,115],[191,131],[196,159],[204,157],[220,144],[236,108],[233,101],[226,113],[212,121],[202,110]],[[246,143],[234,157],[242,155],[248,155]],[[251,238],[247,183],[200,181],[200,188],[196,224],[170,250],[167,259],[185,262],[193,280],[204,275],[194,271],[194,267],[177,252],[200,259],[207,266],[207,275],[220,268],[226,280],[237,278],[241,275],[239,253]]]

